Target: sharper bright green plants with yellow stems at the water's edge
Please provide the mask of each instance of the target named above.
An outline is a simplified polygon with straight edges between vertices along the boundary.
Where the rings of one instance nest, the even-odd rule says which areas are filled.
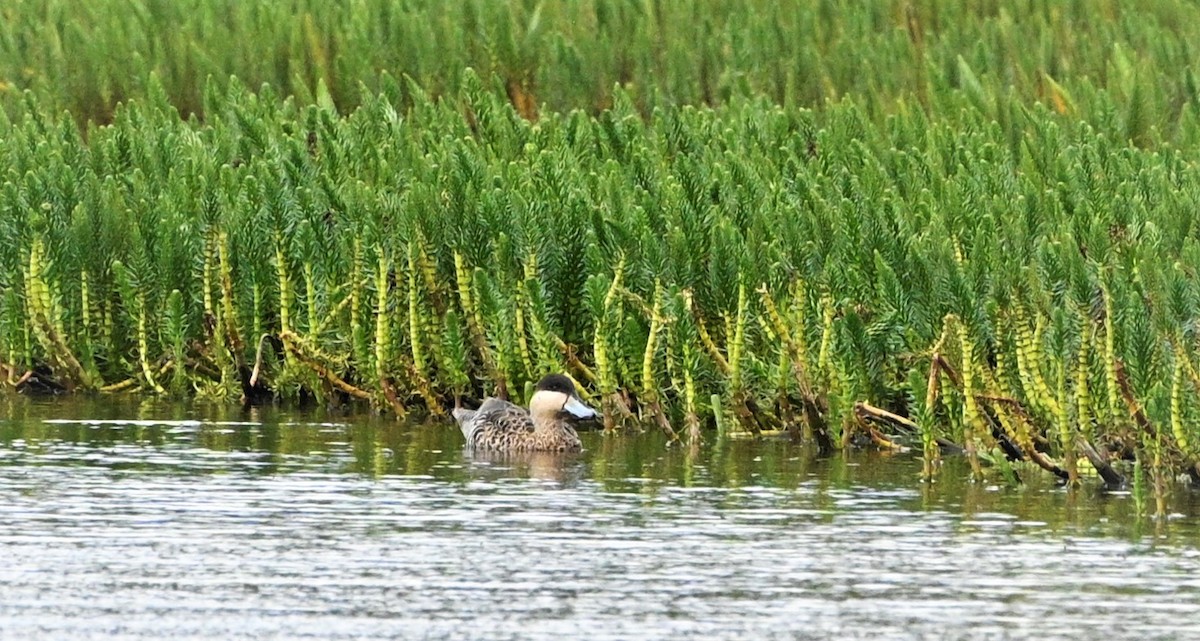
[[[203,120],[160,89],[80,127],[30,95],[0,124],[7,381],[436,415],[568,371],[610,430],[866,436],[926,478],[941,447],[1069,480],[1133,455],[1165,491],[1196,462],[1192,134],[980,68],[887,113],[618,88],[529,119],[470,72],[344,114],[230,80]]]

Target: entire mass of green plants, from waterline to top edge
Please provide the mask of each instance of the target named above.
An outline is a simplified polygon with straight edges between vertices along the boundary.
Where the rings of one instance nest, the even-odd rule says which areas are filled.
[[[1190,5],[187,5],[0,10],[10,383],[1195,469]]]

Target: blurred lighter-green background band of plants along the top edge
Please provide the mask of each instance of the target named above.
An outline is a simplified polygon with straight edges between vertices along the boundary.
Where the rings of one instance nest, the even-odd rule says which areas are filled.
[[[527,115],[596,113],[617,84],[643,115],[744,96],[941,110],[958,88],[1088,118],[1116,103],[1129,109],[1121,139],[1151,139],[1200,103],[1196,42],[1200,7],[1181,0],[13,0],[0,8],[0,98],[31,89],[107,122],[156,76],[182,114],[203,114],[205,79],[236,76],[301,103],[323,85],[347,113],[383,71],[438,96],[472,67]]]

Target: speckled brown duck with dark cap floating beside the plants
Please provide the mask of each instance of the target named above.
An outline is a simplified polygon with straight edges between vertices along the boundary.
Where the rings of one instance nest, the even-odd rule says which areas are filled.
[[[580,451],[583,443],[571,421],[596,417],[571,378],[560,373],[538,382],[528,411],[494,397],[485,399],[479,409],[454,411],[467,448],[490,451]]]

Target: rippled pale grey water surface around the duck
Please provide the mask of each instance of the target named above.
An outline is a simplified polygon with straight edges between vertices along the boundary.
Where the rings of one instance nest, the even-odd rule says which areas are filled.
[[[0,639],[1187,639],[1200,501],[781,442],[0,397]]]

